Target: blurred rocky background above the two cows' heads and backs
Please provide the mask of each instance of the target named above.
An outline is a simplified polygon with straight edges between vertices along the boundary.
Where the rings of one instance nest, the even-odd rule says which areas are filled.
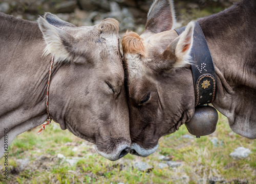
[[[190,20],[214,14],[238,0],[174,1],[177,27]],[[35,21],[45,12],[57,14],[77,26],[94,25],[104,18],[116,18],[120,33],[133,30],[142,33],[147,11],[153,0],[0,0],[0,12]]]

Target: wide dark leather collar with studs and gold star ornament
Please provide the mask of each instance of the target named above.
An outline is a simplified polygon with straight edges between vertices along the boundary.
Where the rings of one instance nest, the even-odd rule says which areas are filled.
[[[186,27],[175,29],[180,35]],[[191,48],[191,70],[194,81],[195,107],[212,103],[216,97],[216,74],[210,50],[198,22],[195,22]]]

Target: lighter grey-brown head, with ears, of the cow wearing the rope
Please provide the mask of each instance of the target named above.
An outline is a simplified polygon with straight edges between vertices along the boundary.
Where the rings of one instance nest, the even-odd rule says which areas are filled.
[[[118,21],[75,27],[46,13],[38,19],[45,57],[55,56],[49,113],[62,129],[96,144],[115,161],[129,153],[129,111],[124,90]]]

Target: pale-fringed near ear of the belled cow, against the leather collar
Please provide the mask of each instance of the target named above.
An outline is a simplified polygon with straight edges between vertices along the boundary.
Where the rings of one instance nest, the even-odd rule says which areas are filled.
[[[194,27],[194,22],[189,22],[185,31],[163,51],[161,58],[165,61],[165,65],[180,68],[186,64],[191,64],[190,51],[193,45]]]

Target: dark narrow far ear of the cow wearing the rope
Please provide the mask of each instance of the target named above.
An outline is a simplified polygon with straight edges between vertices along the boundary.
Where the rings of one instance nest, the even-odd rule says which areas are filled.
[[[74,24],[61,20],[59,17],[49,12],[45,13],[44,17],[48,21],[48,23],[54,25],[59,29],[62,29],[64,27],[73,27],[73,28],[76,27]]]

